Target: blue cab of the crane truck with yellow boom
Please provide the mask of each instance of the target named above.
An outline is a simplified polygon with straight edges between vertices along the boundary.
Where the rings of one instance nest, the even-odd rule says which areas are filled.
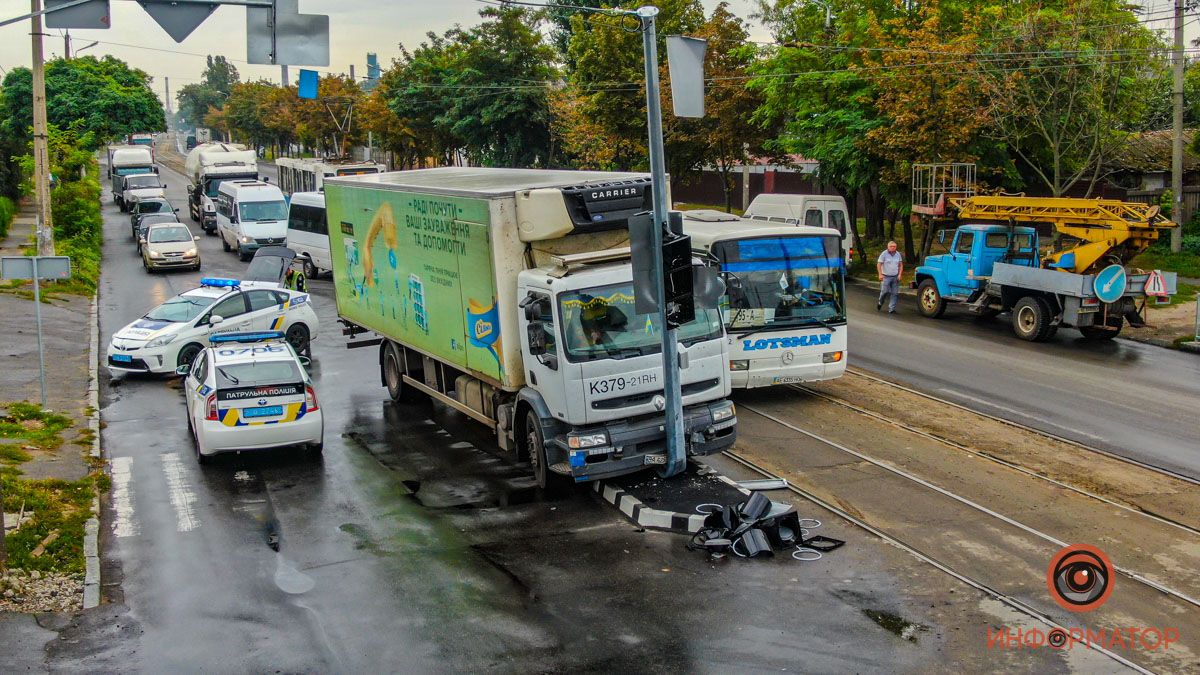
[[[942,298],[967,300],[984,289],[996,263],[1038,267],[1038,232],[1032,227],[972,223],[953,235],[948,252],[929,256],[917,268],[917,288],[930,280]]]

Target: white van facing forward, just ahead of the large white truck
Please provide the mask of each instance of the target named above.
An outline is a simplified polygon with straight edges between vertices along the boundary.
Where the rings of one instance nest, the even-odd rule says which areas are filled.
[[[288,204],[278,187],[253,179],[224,180],[215,199],[217,237],[226,251],[248,261],[259,246],[288,241]]]

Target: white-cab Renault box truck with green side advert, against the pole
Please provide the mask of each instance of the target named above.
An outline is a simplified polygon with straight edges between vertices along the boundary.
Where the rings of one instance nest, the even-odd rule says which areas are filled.
[[[394,400],[490,428],[556,489],[667,461],[658,313],[635,310],[644,174],[446,167],[325,180],[337,313]],[[716,307],[678,329],[688,454],[736,436]],[[371,344],[368,341],[367,344]]]

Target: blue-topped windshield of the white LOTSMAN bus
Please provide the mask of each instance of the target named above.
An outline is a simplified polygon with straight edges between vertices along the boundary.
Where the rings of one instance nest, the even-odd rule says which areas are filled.
[[[846,293],[836,237],[764,237],[720,241],[727,273],[721,317],[731,333],[844,323]]]

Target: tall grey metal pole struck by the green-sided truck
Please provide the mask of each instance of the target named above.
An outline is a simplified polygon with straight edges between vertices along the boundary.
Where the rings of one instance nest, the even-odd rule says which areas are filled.
[[[654,198],[654,222],[650,226],[655,251],[662,250],[667,227],[667,169],[662,147],[662,110],[659,95],[659,48],[655,30],[658,7],[640,7],[636,12],[642,24],[642,49],[646,55],[646,121],[649,130],[650,189]],[[674,329],[667,329],[666,271],[662,256],[654,257],[654,297],[659,304],[659,325],[662,335],[662,392],[667,435],[667,464],[664,477],[682,473],[688,466],[686,440],[683,431],[683,395],[679,390],[679,342]]]

